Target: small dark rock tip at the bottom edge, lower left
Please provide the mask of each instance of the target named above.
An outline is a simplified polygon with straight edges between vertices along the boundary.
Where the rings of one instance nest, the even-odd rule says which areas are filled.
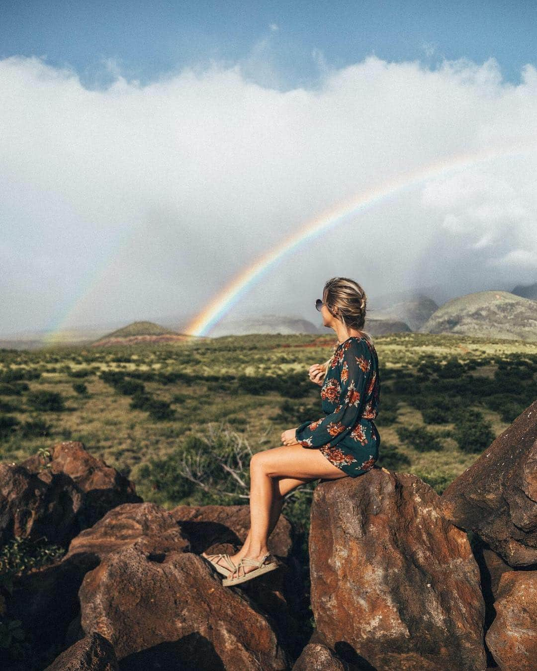
[[[95,632],[64,650],[45,671],[118,671],[109,640]]]

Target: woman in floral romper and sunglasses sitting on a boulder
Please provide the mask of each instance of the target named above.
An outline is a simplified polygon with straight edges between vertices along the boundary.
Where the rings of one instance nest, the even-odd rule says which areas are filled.
[[[202,556],[226,578],[228,586],[278,568],[267,540],[291,490],[311,480],[357,477],[373,468],[381,439],[373,420],[380,397],[379,361],[371,335],[362,330],[367,296],[354,280],[326,282],[316,307],[338,343],[324,364],[309,368],[322,386],[324,417],[307,420],[281,434],[282,446],[250,459],[250,531],[236,554]]]

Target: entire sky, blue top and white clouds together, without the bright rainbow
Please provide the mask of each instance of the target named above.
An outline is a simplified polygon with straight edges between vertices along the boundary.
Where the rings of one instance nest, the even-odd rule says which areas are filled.
[[[537,281],[537,3],[0,3],[0,336],[192,317],[319,322],[336,275],[441,303]]]

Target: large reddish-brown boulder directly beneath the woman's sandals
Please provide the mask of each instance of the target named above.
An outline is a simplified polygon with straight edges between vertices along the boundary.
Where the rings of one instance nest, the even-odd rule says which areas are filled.
[[[191,552],[111,552],[79,597],[85,633],[109,639],[120,668],[289,668],[269,617]]]

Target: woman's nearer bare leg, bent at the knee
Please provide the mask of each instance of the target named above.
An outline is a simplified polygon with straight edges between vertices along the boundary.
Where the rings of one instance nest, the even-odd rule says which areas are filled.
[[[299,480],[299,484],[309,480],[324,478],[332,480],[348,477],[337,466],[334,466],[319,451],[303,448],[301,445],[281,446],[273,450],[257,452],[250,459],[250,531],[248,532],[248,548],[246,543],[240,552],[230,558],[234,564],[243,556],[254,560],[261,560],[268,552],[266,546],[269,535],[274,528],[271,521],[276,517],[276,511],[281,510],[281,504],[274,509],[279,497],[274,494],[273,480],[275,478],[291,478]],[[295,484],[294,486],[299,486]],[[294,487],[291,487],[294,488]],[[277,512],[279,517],[279,511]],[[278,519],[276,517],[276,521]],[[254,566],[245,566],[245,572],[253,570]],[[231,576],[232,574],[230,574]]]

